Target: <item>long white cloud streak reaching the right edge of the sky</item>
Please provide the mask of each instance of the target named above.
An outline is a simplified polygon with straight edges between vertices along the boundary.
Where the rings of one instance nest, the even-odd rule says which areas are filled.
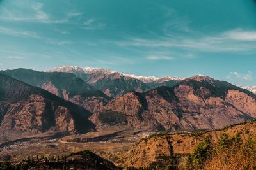
[[[230,33],[231,32],[231,33]],[[251,32],[251,34],[248,34]],[[188,38],[183,36],[164,36],[157,39],[129,38],[113,41],[118,46],[192,50],[200,52],[256,52],[256,39],[253,31],[227,31],[213,36]],[[255,32],[256,33],[256,32]],[[244,36],[243,36],[244,35]],[[250,36],[252,36],[250,38]],[[241,41],[241,40],[248,41]],[[250,41],[249,41],[250,40]],[[111,42],[110,42],[111,43]]]

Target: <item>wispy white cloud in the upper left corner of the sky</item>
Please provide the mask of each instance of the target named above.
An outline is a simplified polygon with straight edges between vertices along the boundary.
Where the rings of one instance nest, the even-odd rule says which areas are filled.
[[[12,9],[12,10],[11,10]],[[68,11],[63,12],[62,15],[54,15],[45,11],[44,4],[38,1],[20,1],[13,0],[11,3],[0,6],[0,20],[6,22],[34,22],[39,24],[72,24],[82,29],[104,29],[106,24],[90,18],[84,23],[83,12],[81,11]],[[74,18],[77,18],[75,21]],[[79,21],[78,21],[79,20]],[[61,33],[66,34],[67,31]]]

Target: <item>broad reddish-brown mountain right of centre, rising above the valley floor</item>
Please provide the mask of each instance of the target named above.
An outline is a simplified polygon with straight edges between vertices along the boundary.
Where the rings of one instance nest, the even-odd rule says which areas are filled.
[[[113,122],[114,117],[122,118]],[[158,87],[142,94],[129,92],[110,101],[90,119],[97,125],[119,123],[147,131],[174,131],[220,128],[253,118],[254,94],[225,81],[195,76],[174,87]]]

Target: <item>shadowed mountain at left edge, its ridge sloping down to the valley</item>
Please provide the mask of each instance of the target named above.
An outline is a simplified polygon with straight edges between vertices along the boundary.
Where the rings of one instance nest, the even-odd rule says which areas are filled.
[[[38,87],[0,73],[0,131],[83,133],[91,113]]]

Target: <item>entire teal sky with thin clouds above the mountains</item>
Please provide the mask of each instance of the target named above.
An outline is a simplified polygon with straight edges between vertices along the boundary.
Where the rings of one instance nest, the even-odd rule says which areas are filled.
[[[0,0],[0,69],[63,65],[256,85],[255,0]]]

